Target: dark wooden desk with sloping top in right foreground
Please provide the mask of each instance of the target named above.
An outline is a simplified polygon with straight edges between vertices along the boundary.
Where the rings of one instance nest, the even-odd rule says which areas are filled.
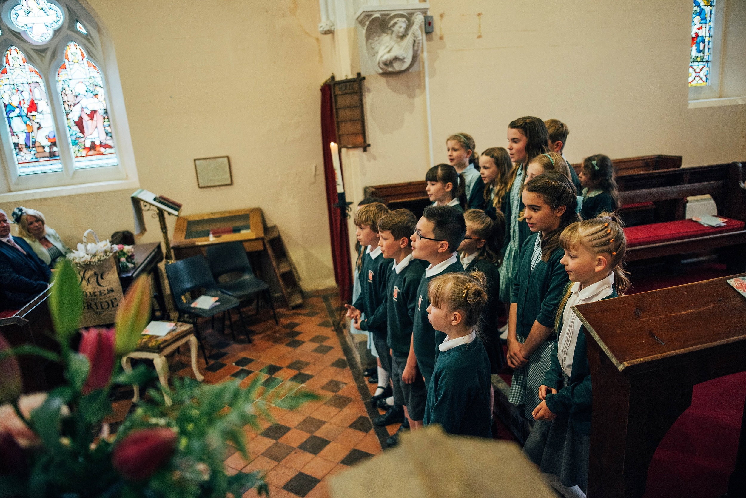
[[[692,387],[746,371],[746,298],[730,278],[574,307],[593,381],[589,498],[642,497]]]

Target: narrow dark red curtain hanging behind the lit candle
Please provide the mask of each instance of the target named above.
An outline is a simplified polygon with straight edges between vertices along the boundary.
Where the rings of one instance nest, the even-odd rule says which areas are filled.
[[[334,265],[334,280],[339,286],[342,303],[349,303],[352,297],[350,238],[347,232],[347,220],[340,215],[339,207],[333,206],[337,204],[338,199],[329,144],[336,142],[335,121],[331,85],[325,84],[322,85],[322,150],[324,151],[324,179],[327,187],[327,212],[331,234],[331,259]]]

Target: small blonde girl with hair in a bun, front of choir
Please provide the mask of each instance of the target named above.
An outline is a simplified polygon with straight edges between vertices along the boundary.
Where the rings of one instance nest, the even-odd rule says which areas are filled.
[[[449,434],[492,435],[489,358],[479,323],[485,286],[484,274],[474,271],[442,274],[427,288],[427,319],[446,337],[436,348],[423,422],[439,423]]]

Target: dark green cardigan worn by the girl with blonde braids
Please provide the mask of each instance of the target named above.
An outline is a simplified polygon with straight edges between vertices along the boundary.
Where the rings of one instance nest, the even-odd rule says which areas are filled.
[[[604,297],[612,299],[618,297],[616,289]],[[601,299],[601,300],[604,300]],[[564,310],[562,310],[564,312]],[[577,342],[572,356],[572,371],[570,382],[565,387],[563,377],[565,375],[557,357],[557,341],[552,344],[552,366],[542,382],[550,388],[557,389],[557,394],[547,394],[547,408],[554,414],[570,414],[570,422],[576,432],[591,435],[591,406],[593,401],[591,389],[591,370],[588,366],[588,342],[585,334],[586,327],[583,325],[577,332]],[[562,330],[562,318],[558,326],[558,334]]]

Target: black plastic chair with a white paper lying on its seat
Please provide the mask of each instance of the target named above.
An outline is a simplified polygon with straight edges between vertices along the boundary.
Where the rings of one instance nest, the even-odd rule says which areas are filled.
[[[192,317],[192,324],[194,324],[195,334],[202,348],[204,362],[207,363],[207,353],[205,353],[204,344],[202,344],[202,336],[199,333],[197,318],[214,317],[218,313],[228,311],[228,318],[231,320],[231,332],[233,332],[233,319],[231,318],[230,310],[239,306],[239,300],[220,291],[218,285],[215,283],[213,274],[210,273],[210,266],[207,265],[207,260],[201,254],[166,265],[166,275],[169,277],[171,295],[174,298],[174,303],[180,317],[181,315]],[[194,300],[189,296],[185,297],[184,294],[189,294],[190,291],[197,289],[204,289],[204,295],[206,296],[218,297],[216,305],[210,309],[192,308]],[[243,319],[241,324],[243,325]],[[243,329],[246,338],[248,338],[246,327],[243,327]],[[235,333],[233,333],[233,338],[236,338]]]

